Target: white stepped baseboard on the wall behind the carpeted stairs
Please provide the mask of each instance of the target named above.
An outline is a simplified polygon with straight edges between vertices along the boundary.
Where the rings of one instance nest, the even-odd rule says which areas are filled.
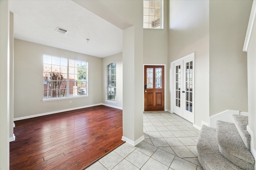
[[[213,115],[210,117],[210,127],[216,128],[216,121],[226,121],[230,123],[234,123],[234,119],[232,118],[232,115],[246,115],[248,116],[247,112],[237,111],[237,110],[226,110],[222,111],[221,113],[218,113],[216,115]]]

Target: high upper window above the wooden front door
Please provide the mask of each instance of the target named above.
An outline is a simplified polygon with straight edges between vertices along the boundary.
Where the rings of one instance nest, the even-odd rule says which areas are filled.
[[[143,28],[163,29],[163,0],[143,0]]]

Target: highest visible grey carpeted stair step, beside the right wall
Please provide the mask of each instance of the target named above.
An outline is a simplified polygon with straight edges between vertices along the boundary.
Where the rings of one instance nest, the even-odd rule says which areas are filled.
[[[248,116],[232,115],[232,117],[235,121],[236,129],[244,141],[244,145],[248,150],[250,150],[251,135],[246,130],[246,126],[248,125]]]

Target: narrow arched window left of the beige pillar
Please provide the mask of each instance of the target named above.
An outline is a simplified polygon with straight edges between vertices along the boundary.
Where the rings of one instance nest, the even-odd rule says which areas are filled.
[[[116,63],[108,65],[108,100],[116,101]]]

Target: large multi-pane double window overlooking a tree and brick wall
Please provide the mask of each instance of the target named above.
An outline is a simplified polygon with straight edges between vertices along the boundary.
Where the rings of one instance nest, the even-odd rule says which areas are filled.
[[[87,62],[50,55],[43,58],[43,100],[88,96]]]

